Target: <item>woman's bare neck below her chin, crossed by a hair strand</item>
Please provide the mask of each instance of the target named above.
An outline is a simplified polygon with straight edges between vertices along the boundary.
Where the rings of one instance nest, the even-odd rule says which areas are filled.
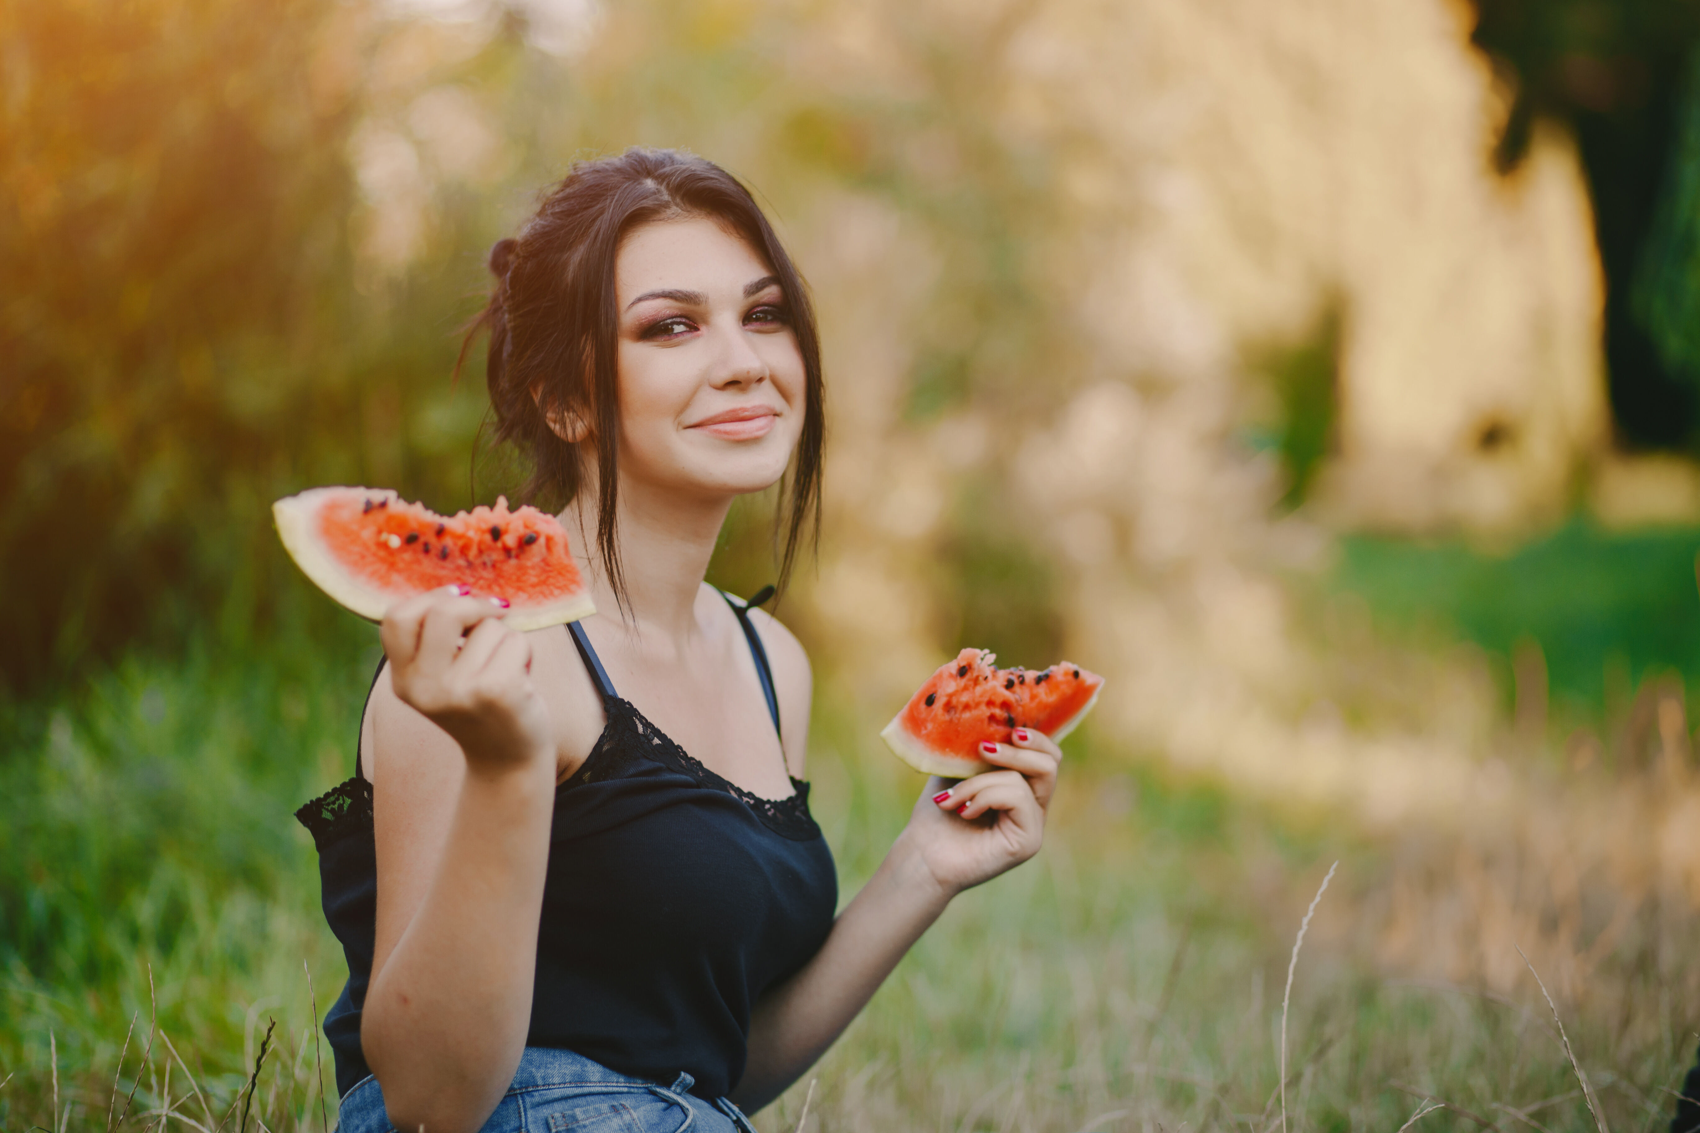
[[[733,498],[685,498],[678,491],[620,482],[614,542],[626,583],[626,618],[644,637],[660,634],[683,647],[697,632],[695,605]],[[590,578],[597,610],[619,618],[614,584],[597,549],[597,493],[586,484],[561,521],[576,535],[575,552]]]

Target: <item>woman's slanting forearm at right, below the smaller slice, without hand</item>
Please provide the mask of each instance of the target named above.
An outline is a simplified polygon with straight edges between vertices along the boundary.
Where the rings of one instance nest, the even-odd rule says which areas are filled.
[[[950,897],[899,837],[814,958],[756,1004],[750,1060],[733,1101],[755,1113],[814,1065]]]

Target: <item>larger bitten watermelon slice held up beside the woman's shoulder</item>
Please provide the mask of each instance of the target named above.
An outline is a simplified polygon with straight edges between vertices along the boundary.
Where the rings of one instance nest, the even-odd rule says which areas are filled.
[[[576,622],[597,612],[566,532],[537,508],[442,516],[389,489],[314,488],[272,504],[284,547],[320,589],[377,622],[401,598],[459,583],[507,598],[517,630]]]

